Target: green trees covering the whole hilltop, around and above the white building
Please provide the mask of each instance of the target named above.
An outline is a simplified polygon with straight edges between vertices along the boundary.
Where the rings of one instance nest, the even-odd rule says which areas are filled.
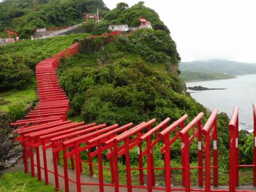
[[[90,28],[84,28],[86,33],[104,33],[108,31],[108,24],[116,22],[137,27],[140,26],[140,17],[150,20],[154,29],[170,33],[158,14],[144,6],[142,1],[131,8],[126,3],[118,3],[109,12],[102,0],[5,0],[0,3],[0,36],[6,37],[4,29],[12,28],[19,32],[20,38],[30,38],[35,28],[71,26],[84,20],[83,13],[96,13],[97,8],[101,22],[86,24],[86,27],[90,25]]]

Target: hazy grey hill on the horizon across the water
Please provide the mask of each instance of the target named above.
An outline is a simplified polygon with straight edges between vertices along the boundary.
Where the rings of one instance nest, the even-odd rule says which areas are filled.
[[[228,60],[208,60],[181,62],[180,71],[189,72],[215,72],[239,76],[244,74],[256,74],[256,63],[242,63]]]

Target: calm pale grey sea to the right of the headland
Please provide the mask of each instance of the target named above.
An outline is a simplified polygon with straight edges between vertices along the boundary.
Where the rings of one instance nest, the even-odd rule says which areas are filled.
[[[198,81],[186,83],[189,86],[206,88],[227,88],[227,90],[188,90],[191,96],[205,108],[219,109],[231,115],[234,106],[239,106],[239,129],[253,130],[252,104],[256,102],[256,74],[237,76],[235,79]]]

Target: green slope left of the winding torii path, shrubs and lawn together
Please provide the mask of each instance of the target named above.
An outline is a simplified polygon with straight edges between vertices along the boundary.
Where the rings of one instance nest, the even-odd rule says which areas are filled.
[[[13,120],[22,118],[26,114],[25,108],[36,99],[36,63],[67,49],[86,36],[86,33],[72,34],[1,46],[0,112],[11,112]]]

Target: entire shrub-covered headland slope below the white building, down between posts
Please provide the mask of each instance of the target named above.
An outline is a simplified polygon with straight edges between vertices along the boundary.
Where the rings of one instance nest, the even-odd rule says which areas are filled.
[[[58,70],[61,86],[70,99],[69,117],[79,116],[88,123],[124,125],[128,122],[138,124],[151,118],[160,122],[170,117],[174,121],[186,113],[191,120],[203,111],[204,124],[209,113],[204,106],[187,95],[177,72],[173,70],[172,66],[177,63],[170,62],[172,56],[163,51],[164,60],[158,58],[161,62],[158,59],[152,61],[144,51],[136,49],[143,44],[144,49],[154,56],[156,42],[159,47],[166,47],[170,41],[166,36],[157,36],[159,33],[165,32],[139,30],[131,36],[120,35],[108,44],[103,44],[101,38],[82,41],[81,53],[62,60]],[[151,41],[147,40],[148,36]],[[133,46],[134,51],[127,49]],[[227,115],[221,113],[218,116],[218,147],[223,155],[221,166],[228,166],[227,124]],[[196,142],[191,145],[191,162],[196,164]],[[155,163],[164,166],[162,154],[156,151]],[[134,166],[138,163],[136,153],[136,148],[131,150],[131,163]],[[179,166],[179,144],[172,147],[172,157],[172,162]],[[122,170],[120,168],[120,175],[125,175]],[[163,175],[163,170],[157,172],[157,175]],[[227,176],[221,175],[224,177],[221,183],[227,184]]]

